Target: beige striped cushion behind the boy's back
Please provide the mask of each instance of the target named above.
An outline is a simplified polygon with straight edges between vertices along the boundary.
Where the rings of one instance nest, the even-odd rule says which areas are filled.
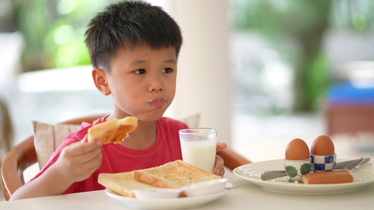
[[[186,123],[190,128],[198,127],[199,119],[199,113],[191,113],[177,118],[177,120]],[[69,133],[80,129],[80,125],[47,124],[37,121],[33,121],[33,127],[34,145],[40,169],[45,166],[50,156],[61,145],[65,137]]]

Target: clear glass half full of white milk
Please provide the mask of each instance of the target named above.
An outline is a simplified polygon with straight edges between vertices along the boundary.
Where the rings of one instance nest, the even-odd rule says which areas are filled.
[[[217,129],[191,128],[179,131],[183,161],[214,173]]]

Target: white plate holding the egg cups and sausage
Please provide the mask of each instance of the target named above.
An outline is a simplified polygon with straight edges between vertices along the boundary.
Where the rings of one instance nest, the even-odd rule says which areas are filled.
[[[337,162],[345,160],[337,158]],[[374,182],[374,166],[372,162],[352,170],[352,174],[355,177],[353,182],[340,184],[304,185],[302,183],[288,183],[288,176],[267,181],[261,180],[261,173],[267,170],[284,170],[283,159],[246,164],[234,169],[233,173],[270,191],[304,195],[350,192]]]

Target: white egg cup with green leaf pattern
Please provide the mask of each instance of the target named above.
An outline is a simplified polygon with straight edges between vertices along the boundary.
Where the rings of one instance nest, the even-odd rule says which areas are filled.
[[[284,159],[284,170],[286,174],[290,177],[288,182],[293,182],[292,180],[301,180],[301,176],[310,172],[310,166],[312,163],[312,158],[306,160],[287,160]],[[300,183],[300,182],[298,182]]]

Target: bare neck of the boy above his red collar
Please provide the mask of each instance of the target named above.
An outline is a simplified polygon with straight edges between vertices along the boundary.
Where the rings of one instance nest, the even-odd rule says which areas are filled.
[[[105,121],[111,120],[114,117],[109,115]],[[129,149],[146,149],[153,145],[156,141],[156,124],[152,122],[144,122],[138,120],[137,129],[134,132],[129,133],[121,145]]]

